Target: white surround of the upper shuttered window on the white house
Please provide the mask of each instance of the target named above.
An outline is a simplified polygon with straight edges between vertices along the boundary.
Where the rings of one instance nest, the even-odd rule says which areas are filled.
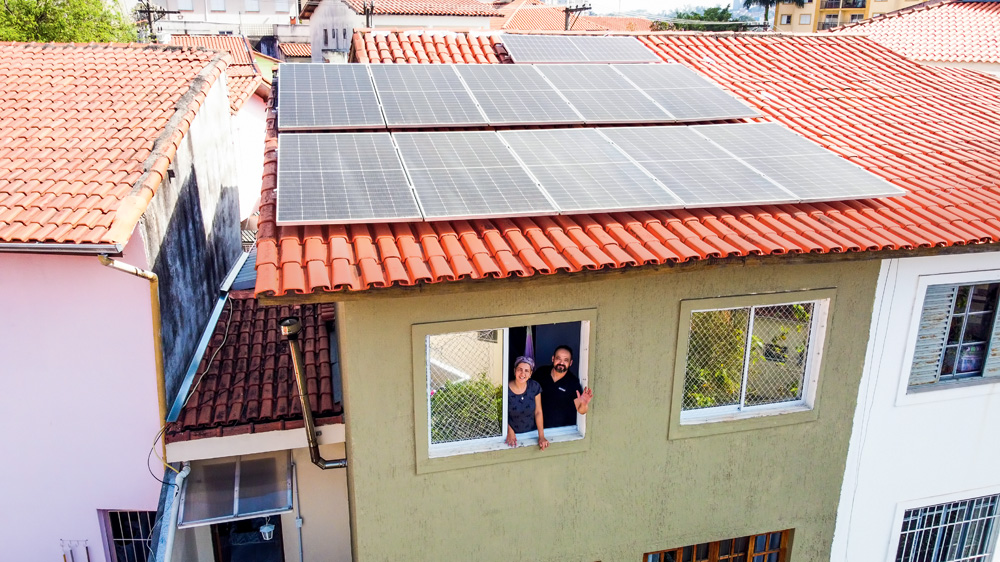
[[[896,405],[908,406],[926,404],[939,400],[962,399],[980,396],[989,392],[982,386],[1000,384],[1000,377],[969,378],[956,381],[942,381],[910,387],[910,369],[916,352],[917,333],[920,331],[920,316],[924,309],[924,297],[931,285],[972,285],[1000,282],[1000,269],[963,271],[960,273],[929,273],[918,275],[913,288],[913,306],[906,333],[906,348],[900,363],[899,384]]]

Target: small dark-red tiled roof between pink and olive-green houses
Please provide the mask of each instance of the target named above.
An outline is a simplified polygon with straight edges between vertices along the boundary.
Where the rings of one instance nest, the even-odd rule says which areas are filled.
[[[178,420],[167,424],[167,442],[302,427],[288,343],[278,329],[286,316],[302,320],[299,341],[317,425],[342,422],[326,329],[332,315],[330,305],[263,306],[251,291],[231,292],[195,375],[200,382]]]

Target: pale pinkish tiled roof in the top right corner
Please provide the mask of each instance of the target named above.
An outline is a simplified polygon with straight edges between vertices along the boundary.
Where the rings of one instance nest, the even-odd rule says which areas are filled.
[[[913,60],[1000,63],[1000,2],[948,0],[834,30],[865,33]]]

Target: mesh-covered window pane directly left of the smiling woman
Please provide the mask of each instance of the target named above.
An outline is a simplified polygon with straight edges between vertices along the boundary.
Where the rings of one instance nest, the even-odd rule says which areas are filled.
[[[503,436],[505,330],[427,336],[432,445]]]

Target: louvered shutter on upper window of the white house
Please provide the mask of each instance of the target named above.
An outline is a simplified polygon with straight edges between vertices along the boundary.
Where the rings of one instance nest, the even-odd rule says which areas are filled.
[[[948,327],[951,324],[952,308],[955,306],[957,294],[958,285],[927,287],[924,309],[920,313],[920,328],[917,330],[917,345],[913,351],[913,366],[910,368],[910,386],[938,380],[941,374],[941,357],[944,354],[944,344],[948,340]],[[1000,369],[1000,357],[997,368]]]

